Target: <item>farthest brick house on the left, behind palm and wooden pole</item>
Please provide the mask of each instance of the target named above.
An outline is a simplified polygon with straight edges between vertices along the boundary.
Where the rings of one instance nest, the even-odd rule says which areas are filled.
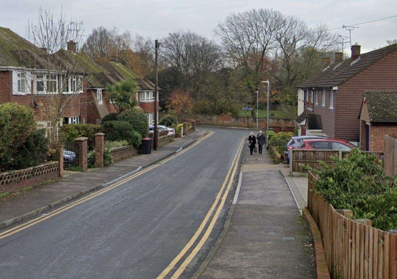
[[[138,83],[140,89],[137,91],[137,102],[138,102],[137,106],[141,107],[144,110],[146,117],[148,118],[148,123],[150,125],[153,124],[154,123],[154,84],[149,79],[145,79],[137,76],[137,74],[129,70],[121,63],[107,62],[105,65],[103,65],[103,68],[105,68],[110,74],[113,74],[114,78],[118,79],[118,81],[122,79],[133,79]],[[160,87],[158,87],[158,91],[159,90]],[[158,91],[157,91],[157,100],[158,100]],[[157,103],[157,110],[159,109],[160,107]],[[109,110],[110,112],[116,112],[115,108],[112,107],[110,104],[109,104]],[[158,118],[158,113],[157,113],[157,118]]]

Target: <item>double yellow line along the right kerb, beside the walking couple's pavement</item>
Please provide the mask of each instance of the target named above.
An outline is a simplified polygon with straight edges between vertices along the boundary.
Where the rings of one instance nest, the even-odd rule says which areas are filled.
[[[216,212],[214,213],[214,216],[212,217],[210,224],[208,225],[206,231],[204,232],[203,236],[201,237],[200,241],[197,243],[197,245],[193,248],[193,250],[190,252],[190,254],[185,258],[185,260],[182,262],[182,264],[179,266],[179,268],[173,273],[171,278],[178,278],[183,271],[186,269],[186,267],[190,264],[190,262],[193,260],[193,258],[196,256],[197,252],[201,249],[201,247],[204,245],[206,240],[208,239],[208,236],[210,235],[212,229],[214,228],[214,225],[216,223],[216,220],[219,217],[219,214],[225,204],[225,200],[227,198],[227,194],[229,194],[229,190],[233,184],[233,178],[235,176],[237,166],[239,165],[239,159],[241,156],[241,150],[243,148],[245,142],[245,138],[241,139],[241,143],[239,145],[239,148],[237,149],[237,152],[234,156],[234,159],[231,163],[231,166],[229,170],[227,171],[226,177],[224,182],[222,183],[222,186],[218,192],[218,194],[215,197],[214,203],[212,203],[212,206],[206,216],[204,217],[203,221],[200,224],[200,227],[198,227],[197,231],[195,234],[192,236],[192,238],[187,242],[185,247],[179,252],[179,254],[172,260],[172,262],[158,275],[158,279],[165,278],[168,273],[175,267],[175,265],[187,254],[189,249],[193,246],[193,244],[196,242],[198,236],[202,233],[204,230],[206,224],[208,223],[208,220],[210,219],[212,213],[214,212],[214,209],[216,208],[216,205],[218,205],[218,208],[216,209]],[[228,182],[228,183],[227,183]],[[224,192],[224,188],[227,185],[227,188]],[[222,195],[222,193],[224,194]],[[222,198],[221,198],[222,196]]]

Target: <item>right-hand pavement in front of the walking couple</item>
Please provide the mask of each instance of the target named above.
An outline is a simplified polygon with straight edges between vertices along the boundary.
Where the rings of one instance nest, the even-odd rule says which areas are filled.
[[[227,231],[195,278],[316,278],[310,234],[266,150],[245,152],[237,193]]]

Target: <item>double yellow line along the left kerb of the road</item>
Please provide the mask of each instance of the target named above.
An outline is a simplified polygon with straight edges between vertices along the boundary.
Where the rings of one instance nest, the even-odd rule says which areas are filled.
[[[61,213],[61,212],[64,212],[64,211],[66,211],[66,210],[69,209],[69,208],[75,207],[76,205],[79,205],[80,203],[87,202],[88,200],[91,200],[91,199],[95,198],[96,196],[99,196],[99,195],[101,195],[101,194],[103,194],[103,193],[106,193],[106,192],[112,190],[113,188],[116,188],[117,186],[120,186],[121,184],[123,184],[123,183],[125,183],[125,182],[128,182],[128,181],[130,181],[131,179],[133,179],[133,178],[135,178],[135,177],[137,177],[137,176],[139,176],[139,175],[141,175],[141,174],[144,174],[145,172],[148,172],[148,171],[150,171],[150,170],[152,170],[152,169],[158,167],[159,165],[162,165],[162,164],[164,164],[164,163],[166,163],[166,162],[172,160],[173,158],[175,158],[175,157],[177,157],[177,156],[179,156],[179,155],[185,153],[185,152],[188,151],[189,149],[192,149],[193,147],[195,147],[196,145],[198,145],[200,142],[204,141],[206,138],[210,137],[213,133],[214,133],[214,132],[210,131],[208,134],[206,134],[204,137],[200,138],[198,141],[196,141],[195,143],[193,143],[191,146],[187,147],[186,149],[183,149],[181,152],[178,152],[178,153],[176,153],[175,155],[172,155],[171,157],[169,157],[169,158],[167,158],[167,159],[164,159],[163,161],[160,161],[160,163],[158,163],[158,164],[152,165],[152,166],[150,166],[150,167],[148,167],[148,168],[146,168],[146,169],[143,169],[142,171],[139,171],[139,172],[136,172],[136,173],[134,173],[134,174],[131,174],[131,176],[128,176],[128,177],[126,177],[126,178],[123,178],[122,180],[120,180],[120,181],[118,181],[118,182],[115,182],[114,184],[112,184],[112,185],[110,185],[110,186],[108,186],[108,187],[106,187],[106,188],[104,188],[104,189],[102,189],[102,190],[99,190],[99,191],[97,191],[97,192],[94,192],[94,193],[92,193],[92,194],[89,194],[89,195],[86,196],[85,198],[81,198],[80,200],[77,200],[77,201],[75,201],[75,202],[68,203],[67,205],[64,205],[64,206],[62,206],[62,207],[60,207],[60,208],[58,208],[58,209],[56,209],[56,210],[54,210],[54,211],[51,211],[51,212],[48,213],[47,215],[41,215],[41,216],[39,216],[39,217],[37,217],[37,218],[35,218],[35,219],[32,219],[32,220],[30,220],[30,221],[28,221],[28,222],[26,222],[26,223],[23,223],[23,224],[21,224],[21,225],[18,225],[18,226],[16,226],[16,227],[13,227],[12,229],[9,229],[9,230],[7,230],[7,231],[4,231],[4,232],[0,233],[0,239],[5,238],[5,237],[7,237],[7,236],[10,236],[10,235],[12,235],[12,234],[15,234],[15,233],[17,233],[17,232],[19,232],[19,231],[22,231],[22,230],[24,230],[24,229],[27,229],[27,228],[29,228],[29,227],[31,227],[31,226],[33,226],[33,225],[36,225],[37,223],[40,223],[40,222],[42,222],[42,221],[44,221],[44,220],[46,220],[46,219],[48,219],[48,218],[53,217],[54,215],[57,215],[57,214],[59,214],[59,213]]]

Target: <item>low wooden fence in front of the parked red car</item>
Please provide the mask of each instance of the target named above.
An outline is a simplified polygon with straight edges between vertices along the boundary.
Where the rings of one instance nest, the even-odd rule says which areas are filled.
[[[333,165],[331,156],[337,156],[341,159],[346,158],[350,151],[342,150],[318,150],[318,149],[291,149],[289,151],[290,161],[289,170],[290,172],[307,172],[303,165],[308,165],[312,168],[320,167],[320,161],[326,162],[330,167]],[[370,152],[376,155],[377,161],[382,158],[383,152]]]

